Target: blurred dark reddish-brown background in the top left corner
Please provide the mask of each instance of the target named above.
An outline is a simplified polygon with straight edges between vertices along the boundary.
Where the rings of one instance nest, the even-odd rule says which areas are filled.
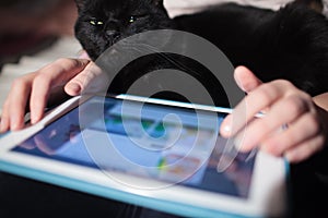
[[[0,68],[72,37],[74,0],[0,0]]]

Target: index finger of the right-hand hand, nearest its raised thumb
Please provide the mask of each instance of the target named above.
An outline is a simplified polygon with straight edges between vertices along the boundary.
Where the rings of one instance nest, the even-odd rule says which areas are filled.
[[[260,85],[249,93],[222,122],[220,133],[223,136],[234,136],[261,110],[270,107],[283,95],[291,84],[285,81],[273,81]],[[293,86],[292,86],[293,87]]]

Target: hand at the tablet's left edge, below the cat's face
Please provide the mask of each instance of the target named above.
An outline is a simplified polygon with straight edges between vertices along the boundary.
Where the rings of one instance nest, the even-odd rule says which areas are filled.
[[[16,131],[24,126],[26,110],[31,122],[38,122],[49,100],[62,94],[77,96],[98,72],[87,59],[59,59],[40,70],[14,81],[3,104],[0,131]],[[56,96],[56,97],[55,97]]]

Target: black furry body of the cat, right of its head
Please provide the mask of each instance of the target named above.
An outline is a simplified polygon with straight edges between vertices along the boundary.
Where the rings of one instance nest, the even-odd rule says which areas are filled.
[[[248,66],[265,82],[286,78],[311,95],[327,92],[328,23],[303,4],[278,12],[225,4],[176,21],[202,33],[234,65]],[[211,21],[216,28],[204,25]]]

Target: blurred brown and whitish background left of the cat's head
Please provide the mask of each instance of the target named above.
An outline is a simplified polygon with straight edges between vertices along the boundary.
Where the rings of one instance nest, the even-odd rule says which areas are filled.
[[[0,0],[0,117],[13,81],[58,58],[77,58],[74,0]]]

